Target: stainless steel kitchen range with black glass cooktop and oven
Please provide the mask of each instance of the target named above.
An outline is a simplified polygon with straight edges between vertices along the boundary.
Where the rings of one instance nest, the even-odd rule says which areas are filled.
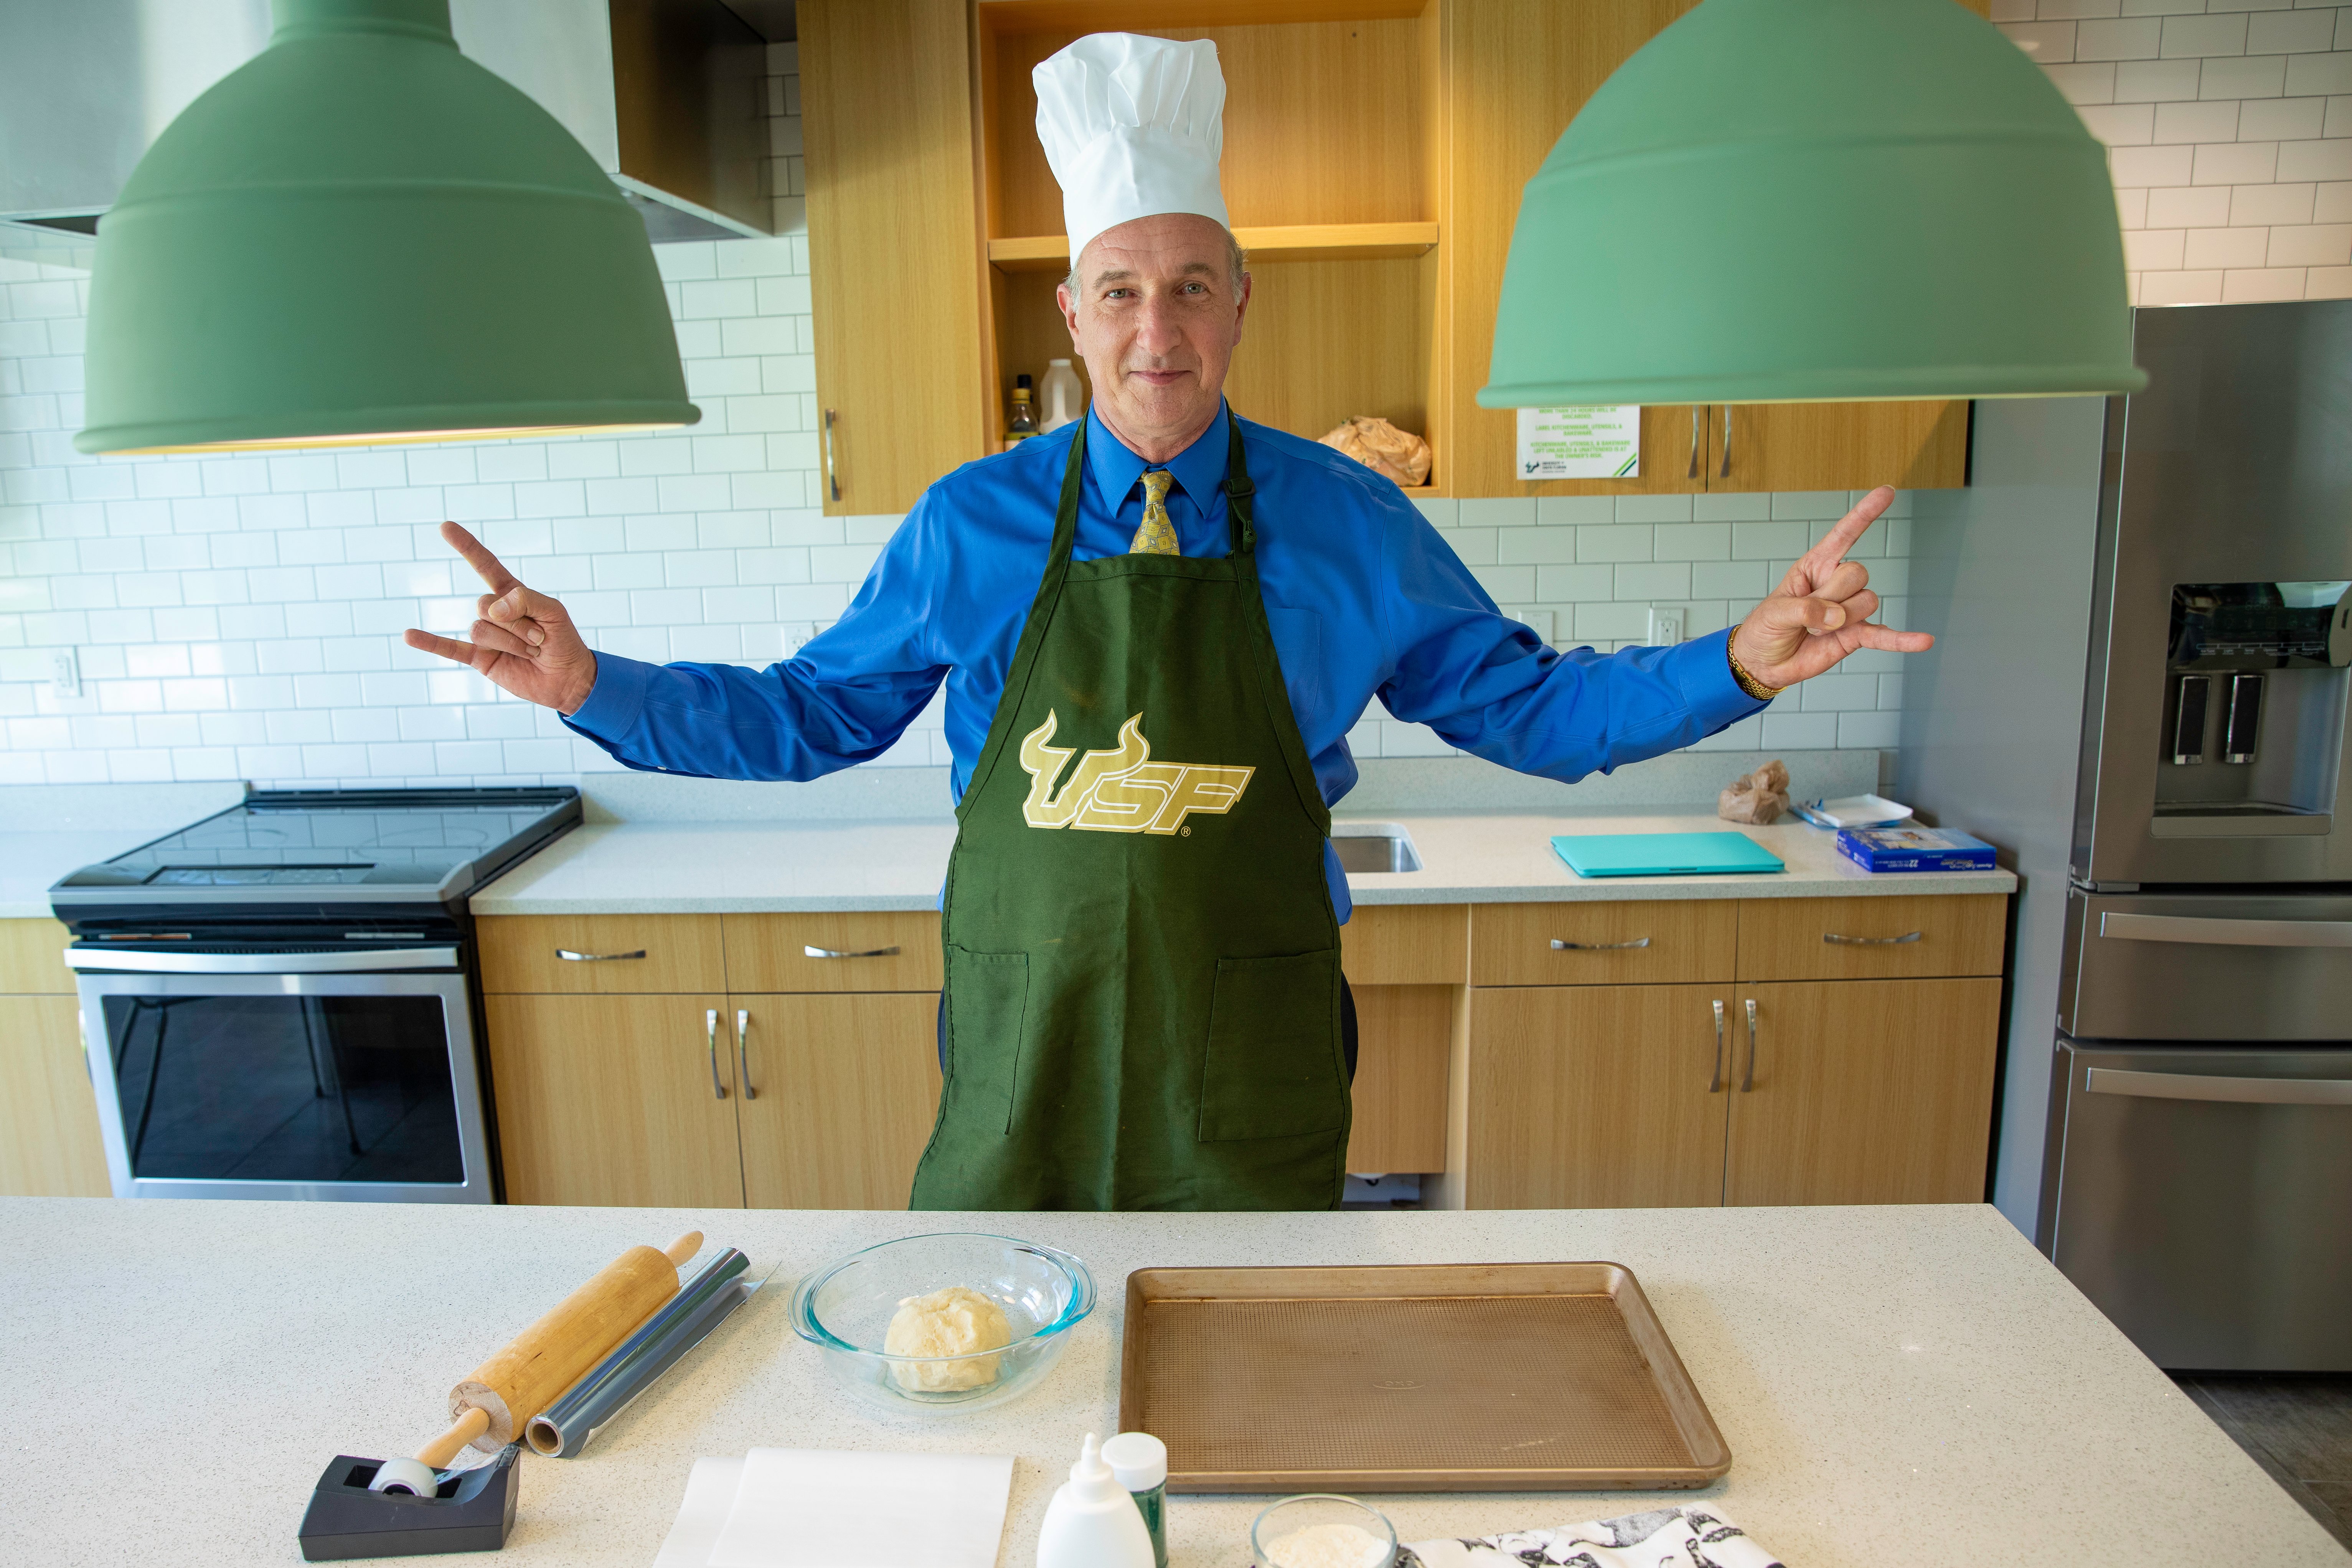
[[[579,816],[259,792],[59,882],[115,1197],[494,1204],[466,900]]]

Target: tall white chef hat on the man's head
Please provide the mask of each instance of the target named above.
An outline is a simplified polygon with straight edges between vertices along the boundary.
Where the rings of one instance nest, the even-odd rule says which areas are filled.
[[[1061,181],[1070,261],[1087,240],[1129,219],[1197,212],[1228,223],[1216,186],[1225,73],[1214,42],[1089,33],[1030,80],[1037,141]]]

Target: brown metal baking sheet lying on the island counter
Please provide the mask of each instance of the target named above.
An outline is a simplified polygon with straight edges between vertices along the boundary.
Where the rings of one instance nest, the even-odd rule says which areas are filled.
[[[1171,1493],[1708,1486],[1731,1448],[1632,1269],[1136,1269],[1120,1432]]]

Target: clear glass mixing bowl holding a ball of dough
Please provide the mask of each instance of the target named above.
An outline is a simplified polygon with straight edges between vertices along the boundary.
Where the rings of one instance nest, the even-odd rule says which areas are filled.
[[[884,1352],[898,1302],[946,1286],[964,1286],[1002,1307],[1011,1345],[969,1356]],[[828,1262],[793,1291],[793,1333],[823,1352],[835,1382],[896,1413],[983,1410],[1021,1396],[1044,1378],[1068,1331],[1089,1312],[1094,1274],[1084,1262],[1051,1246],[978,1232],[882,1241]],[[910,1387],[960,1382],[964,1363],[974,1387]],[[985,1378],[990,1363],[995,1378]]]

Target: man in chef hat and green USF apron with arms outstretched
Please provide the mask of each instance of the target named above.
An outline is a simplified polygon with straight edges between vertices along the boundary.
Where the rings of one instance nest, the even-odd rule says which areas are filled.
[[[1249,275],[1207,42],[1082,38],[1037,68],[1094,409],[948,475],[830,630],[764,672],[593,654],[463,529],[473,644],[409,644],[628,766],[814,778],[946,682],[946,1093],[917,1208],[1329,1208],[1352,1004],[1329,802],[1388,712],[1529,773],[1689,745],[1858,646],[1875,491],[1731,635],[1602,658],[1508,621],[1383,477],[1235,418]]]

